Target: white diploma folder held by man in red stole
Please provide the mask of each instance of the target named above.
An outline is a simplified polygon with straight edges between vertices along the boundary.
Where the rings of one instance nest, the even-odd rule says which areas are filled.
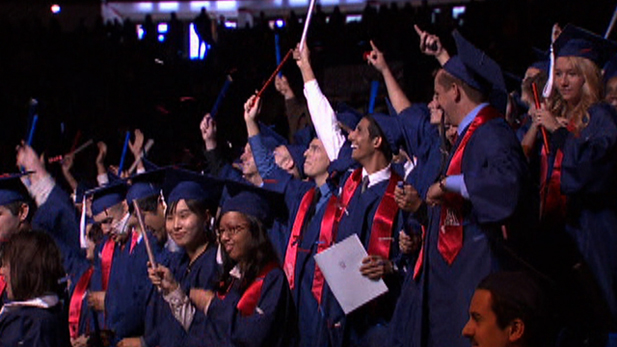
[[[315,262],[345,314],[388,291],[383,280],[373,281],[360,273],[362,259],[367,256],[356,234],[315,255]]]

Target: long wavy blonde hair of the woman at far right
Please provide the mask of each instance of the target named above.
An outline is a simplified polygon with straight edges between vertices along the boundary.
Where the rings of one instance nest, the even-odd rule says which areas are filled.
[[[589,107],[601,100],[602,76],[598,66],[589,59],[581,57],[564,58],[574,66],[577,73],[585,78],[585,83],[581,87],[581,99],[574,108],[568,109],[566,101],[557,88],[553,88],[548,98],[547,108],[557,117],[567,117],[569,113],[569,128],[578,133],[589,123],[589,113],[587,112]]]

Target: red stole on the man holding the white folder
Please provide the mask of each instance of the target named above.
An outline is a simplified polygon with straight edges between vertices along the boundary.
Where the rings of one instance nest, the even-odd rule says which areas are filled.
[[[390,181],[386,188],[386,193],[381,198],[377,211],[373,217],[373,225],[371,227],[371,238],[369,240],[368,254],[378,255],[388,259],[390,257],[390,245],[392,244],[392,225],[394,218],[398,212],[398,205],[394,201],[394,188],[396,183],[402,178],[392,171]],[[362,168],[356,169],[343,187],[341,195],[341,211],[347,209],[347,205],[351,200],[354,192],[362,182]],[[343,213],[339,212],[338,220],[343,217]]]

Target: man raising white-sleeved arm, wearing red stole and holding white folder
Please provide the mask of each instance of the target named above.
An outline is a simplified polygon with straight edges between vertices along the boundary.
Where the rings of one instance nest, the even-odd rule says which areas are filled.
[[[310,65],[306,46],[294,51],[294,58],[304,79],[305,95],[311,119],[328,157],[341,160],[339,153],[346,139],[334,110],[321,93]],[[388,293],[345,315],[328,286],[323,293],[323,319],[326,332],[320,334],[319,345],[377,345],[387,334],[403,274],[395,266],[399,259],[398,232],[403,218],[394,201],[394,189],[403,178],[390,167],[393,153],[404,145],[398,117],[365,116],[349,133],[351,159],[361,167],[346,172],[340,180],[336,242],[357,234],[369,254],[360,272],[370,279],[383,278]],[[374,221],[379,219],[379,223]]]

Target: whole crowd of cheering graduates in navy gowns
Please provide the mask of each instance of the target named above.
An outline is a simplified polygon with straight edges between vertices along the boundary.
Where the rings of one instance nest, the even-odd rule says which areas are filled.
[[[313,36],[229,129],[217,102],[162,141],[11,144],[0,346],[617,346],[617,43],[555,24],[515,92],[458,30],[408,24],[424,102],[375,40],[383,113],[335,103]],[[190,164],[149,155],[196,134]],[[388,290],[345,313],[314,257],[351,236]]]

